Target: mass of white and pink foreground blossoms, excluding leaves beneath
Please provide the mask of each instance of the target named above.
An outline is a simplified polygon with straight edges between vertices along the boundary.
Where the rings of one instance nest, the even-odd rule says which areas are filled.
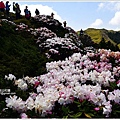
[[[107,89],[110,82],[119,81],[118,64],[113,66],[109,63],[111,55],[114,60],[119,60],[119,54],[119,52],[113,54],[110,50],[98,50],[96,53],[86,55],[74,53],[63,61],[46,63],[48,73],[39,77],[24,78],[28,85],[31,83],[34,85],[36,93],[31,93],[24,102],[20,98],[17,100],[15,96],[7,98],[7,107],[15,110],[21,110],[22,107],[23,110],[35,108],[36,113],[45,116],[52,114],[56,101],[60,105],[66,105],[77,98],[80,101],[88,100],[94,104],[95,111],[102,108],[103,114],[109,117],[112,112],[112,102],[120,104],[120,90],[109,91]],[[92,59],[96,56],[99,57],[98,61]],[[104,56],[104,59],[101,56]],[[108,60],[104,61],[105,59]],[[115,74],[118,76],[117,79],[115,79]]]

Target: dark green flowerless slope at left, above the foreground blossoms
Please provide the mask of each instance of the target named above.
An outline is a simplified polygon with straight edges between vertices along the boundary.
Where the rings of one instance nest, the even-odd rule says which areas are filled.
[[[34,37],[17,32],[14,26],[2,23],[0,27],[0,77],[14,74],[36,76],[44,73],[46,57],[40,53]]]

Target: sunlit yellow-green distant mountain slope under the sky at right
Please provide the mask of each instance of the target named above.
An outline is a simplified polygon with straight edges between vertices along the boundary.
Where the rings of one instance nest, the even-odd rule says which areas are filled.
[[[120,32],[106,30],[106,29],[95,29],[88,28],[85,30],[85,33],[91,37],[91,39],[99,44],[102,38],[104,38],[105,42],[110,41],[112,44],[116,45],[120,43]]]

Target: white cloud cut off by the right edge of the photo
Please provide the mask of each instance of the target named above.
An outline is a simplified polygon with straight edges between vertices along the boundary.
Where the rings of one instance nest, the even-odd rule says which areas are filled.
[[[115,13],[115,16],[109,21],[111,25],[120,25],[120,11]]]

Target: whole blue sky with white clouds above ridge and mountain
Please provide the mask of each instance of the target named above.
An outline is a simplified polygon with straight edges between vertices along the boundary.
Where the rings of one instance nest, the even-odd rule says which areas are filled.
[[[13,0],[9,0],[12,12]],[[5,3],[6,1],[4,1]],[[119,1],[14,1],[20,5],[21,14],[24,15],[25,6],[35,16],[35,9],[40,14],[55,14],[54,18],[61,23],[67,22],[67,26],[75,31],[87,28],[120,30],[120,2]]]

